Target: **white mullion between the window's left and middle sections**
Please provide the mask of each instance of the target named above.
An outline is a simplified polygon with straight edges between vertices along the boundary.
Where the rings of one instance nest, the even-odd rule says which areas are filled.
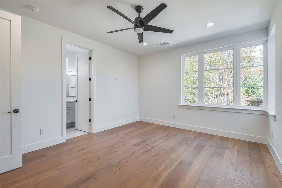
[[[204,58],[203,53],[198,56],[198,103],[203,105],[203,72],[204,72]]]

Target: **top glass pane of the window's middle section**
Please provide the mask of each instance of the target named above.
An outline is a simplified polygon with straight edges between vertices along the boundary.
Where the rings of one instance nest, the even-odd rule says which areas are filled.
[[[204,70],[233,67],[233,50],[214,52],[204,55]]]

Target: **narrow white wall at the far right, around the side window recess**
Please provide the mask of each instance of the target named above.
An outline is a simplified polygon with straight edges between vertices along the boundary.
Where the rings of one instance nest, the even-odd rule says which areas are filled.
[[[282,2],[278,1],[269,23],[269,34],[275,25],[275,114],[276,122],[268,118],[269,149],[282,173]],[[271,136],[273,132],[273,138]]]

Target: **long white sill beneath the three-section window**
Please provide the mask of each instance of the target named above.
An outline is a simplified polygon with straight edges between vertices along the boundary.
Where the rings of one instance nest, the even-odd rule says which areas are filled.
[[[213,111],[222,111],[222,112],[237,112],[237,113],[251,113],[251,114],[263,114],[271,115],[275,114],[274,111],[269,111],[265,109],[246,109],[246,108],[230,108],[230,107],[210,107],[210,106],[199,106],[199,105],[189,105],[189,104],[178,104],[179,108],[188,108],[188,109],[198,109],[198,110],[213,110]]]

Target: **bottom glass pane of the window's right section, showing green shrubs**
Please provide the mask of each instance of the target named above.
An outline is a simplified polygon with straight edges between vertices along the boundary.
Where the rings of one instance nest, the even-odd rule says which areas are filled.
[[[241,89],[241,105],[242,106],[263,106],[263,87],[242,87]]]

